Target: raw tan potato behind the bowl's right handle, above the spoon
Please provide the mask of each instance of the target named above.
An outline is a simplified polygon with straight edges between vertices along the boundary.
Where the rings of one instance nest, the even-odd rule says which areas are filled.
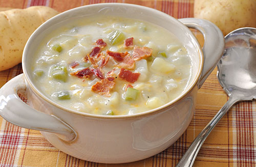
[[[194,17],[215,23],[224,35],[256,27],[256,0],[195,0]]]

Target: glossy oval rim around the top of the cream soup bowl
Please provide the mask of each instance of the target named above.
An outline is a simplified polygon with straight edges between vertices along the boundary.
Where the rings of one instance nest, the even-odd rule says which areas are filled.
[[[150,109],[150,110],[146,110],[145,112],[141,112],[141,113],[136,113],[136,114],[132,114],[132,115],[117,115],[117,116],[106,116],[106,115],[94,115],[94,114],[89,114],[89,113],[85,113],[85,112],[79,112],[77,110],[73,110],[73,109],[70,109],[68,107],[65,107],[65,106],[62,106],[56,102],[54,102],[53,100],[49,99],[47,96],[45,96],[44,94],[40,93],[40,91],[36,88],[36,86],[33,84],[31,78],[28,76],[28,70],[26,68],[26,55],[27,55],[27,50],[29,48],[29,44],[32,43],[33,41],[33,38],[36,38],[34,37],[36,32],[40,29],[47,29],[47,24],[49,22],[51,22],[52,20],[54,20],[55,18],[58,18],[58,17],[62,17],[62,15],[67,15],[69,13],[72,13],[76,10],[79,10],[81,8],[88,8],[88,7],[93,7],[93,6],[96,6],[96,7],[123,7],[123,6],[127,6],[127,7],[133,7],[133,8],[141,8],[141,9],[144,9],[144,10],[148,10],[148,11],[151,11],[152,13],[157,13],[159,15],[163,15],[163,16],[167,16],[170,18],[170,20],[174,21],[176,24],[178,24],[179,26],[182,26],[184,29],[187,30],[187,33],[189,33],[189,35],[191,35],[191,37],[194,39],[195,43],[196,43],[196,46],[197,46],[197,52],[199,54],[199,62],[200,62],[200,68],[199,70],[197,71],[197,74],[196,74],[196,77],[193,79],[193,81],[191,82],[190,86],[185,90],[183,91],[183,93],[176,97],[175,99],[173,99],[172,101],[169,101],[168,103],[165,103],[164,105],[162,106],[159,106],[157,108],[154,108],[154,109]],[[86,11],[86,10],[84,10]],[[160,25],[161,26],[161,25]],[[204,64],[204,57],[203,57],[203,51],[202,51],[202,48],[201,48],[201,45],[199,44],[197,38],[194,36],[194,34],[188,29],[187,26],[185,26],[182,22],[180,22],[178,19],[164,13],[164,12],[161,12],[161,11],[158,11],[156,9],[153,9],[153,8],[149,8],[149,7],[145,7],[145,6],[140,6],[140,5],[134,5],[134,4],[124,4],[124,3],[101,3],[101,4],[92,4],[92,5],[86,5],[86,6],[81,6],[81,7],[77,7],[77,8],[73,8],[73,9],[70,9],[70,10],[67,10],[65,12],[62,12],[62,13],[59,13],[58,15],[50,18],[49,20],[47,20],[46,22],[42,23],[34,32],[33,34],[29,37],[25,47],[24,47],[24,51],[23,51],[23,57],[22,57],[22,68],[23,68],[23,72],[24,72],[24,76],[25,76],[25,80],[27,82],[27,84],[30,86],[29,88],[31,88],[33,90],[33,92],[38,95],[40,98],[44,99],[45,101],[49,102],[51,105],[59,108],[59,109],[62,109],[62,110],[65,110],[66,112],[69,112],[69,113],[72,113],[72,114],[77,114],[77,115],[80,115],[80,116],[84,116],[84,117],[91,117],[91,118],[101,118],[101,119],[127,119],[127,118],[134,118],[134,117],[145,117],[146,115],[152,115],[152,114],[156,114],[156,113],[159,113],[159,112],[162,112],[163,110],[166,110],[167,108],[169,107],[172,107],[173,104],[179,102],[180,100],[182,100],[191,90],[194,89],[194,87],[197,85],[198,83],[198,80],[201,76],[201,73],[202,73],[202,69],[203,69],[203,64]]]

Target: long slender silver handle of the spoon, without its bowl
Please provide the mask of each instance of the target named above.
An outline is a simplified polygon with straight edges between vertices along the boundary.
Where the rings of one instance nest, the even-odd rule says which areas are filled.
[[[219,110],[214,118],[206,125],[206,127],[201,131],[201,133],[195,138],[191,143],[185,154],[181,157],[180,161],[176,164],[176,167],[191,167],[197,157],[197,154],[203,145],[206,137],[210,134],[211,130],[217,125],[221,118],[228,112],[234,103],[236,103],[237,98],[228,99],[224,106]]]

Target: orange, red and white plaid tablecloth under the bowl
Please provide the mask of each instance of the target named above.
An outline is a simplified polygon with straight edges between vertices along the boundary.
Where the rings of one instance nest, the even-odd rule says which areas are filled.
[[[62,12],[82,5],[113,2],[155,8],[175,18],[193,17],[193,0],[0,0],[0,7],[45,5]],[[203,42],[202,36],[197,36]],[[21,65],[0,72],[0,87],[20,73]],[[198,92],[196,113],[185,133],[175,144],[153,157],[125,164],[80,160],[53,147],[39,131],[14,126],[0,117],[0,166],[175,166],[190,143],[228,99],[216,73],[217,69]],[[208,136],[195,166],[256,166],[255,111],[255,101],[234,106]]]

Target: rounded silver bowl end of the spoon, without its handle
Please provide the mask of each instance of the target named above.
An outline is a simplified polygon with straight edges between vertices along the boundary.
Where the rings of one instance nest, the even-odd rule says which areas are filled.
[[[241,100],[256,97],[256,29],[246,27],[229,33],[218,64],[218,79],[228,96]]]

